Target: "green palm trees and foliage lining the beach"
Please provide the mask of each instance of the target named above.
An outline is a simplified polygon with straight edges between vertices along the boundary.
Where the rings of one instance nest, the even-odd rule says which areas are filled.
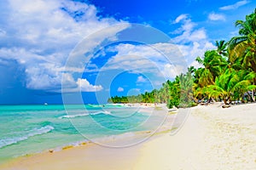
[[[186,73],[152,92],[137,96],[112,97],[110,103],[166,103],[168,108],[189,107],[202,101],[255,102],[256,89],[256,8],[246,20],[237,20],[239,36],[229,42],[216,42],[216,49],[195,60],[201,68],[191,66]]]

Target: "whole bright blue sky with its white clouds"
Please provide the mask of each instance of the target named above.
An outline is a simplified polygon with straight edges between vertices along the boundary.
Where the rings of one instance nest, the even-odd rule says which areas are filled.
[[[0,2],[0,104],[106,103],[160,88],[216,40],[238,33],[253,0]]]

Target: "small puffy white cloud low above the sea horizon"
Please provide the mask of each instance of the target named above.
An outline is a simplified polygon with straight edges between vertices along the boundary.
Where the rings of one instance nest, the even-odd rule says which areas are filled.
[[[79,78],[76,82],[82,92],[98,92],[103,88],[101,85],[91,85],[86,79]]]

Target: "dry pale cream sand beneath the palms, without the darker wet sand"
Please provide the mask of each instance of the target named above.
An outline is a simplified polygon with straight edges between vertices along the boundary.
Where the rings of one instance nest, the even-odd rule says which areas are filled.
[[[256,169],[256,104],[220,105],[192,108],[177,134],[144,144],[135,169]]]

